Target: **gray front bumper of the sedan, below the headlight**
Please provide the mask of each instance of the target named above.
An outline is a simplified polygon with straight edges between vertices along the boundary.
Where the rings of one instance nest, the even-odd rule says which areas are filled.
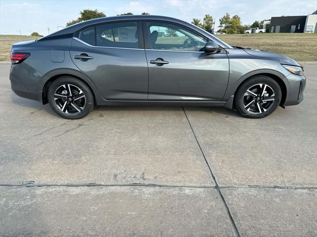
[[[290,74],[286,79],[289,82],[289,87],[287,88],[287,95],[283,106],[299,104],[304,99],[306,77]]]

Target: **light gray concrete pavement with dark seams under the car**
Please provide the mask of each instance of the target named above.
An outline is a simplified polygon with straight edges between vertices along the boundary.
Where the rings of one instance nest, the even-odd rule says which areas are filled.
[[[100,107],[64,120],[0,65],[0,236],[317,236],[317,64],[264,119]]]

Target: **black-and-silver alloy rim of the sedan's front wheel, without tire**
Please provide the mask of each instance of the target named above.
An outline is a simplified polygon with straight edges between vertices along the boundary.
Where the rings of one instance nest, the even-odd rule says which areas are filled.
[[[256,84],[243,95],[244,108],[253,114],[261,114],[270,109],[274,103],[275,94],[267,84]]]

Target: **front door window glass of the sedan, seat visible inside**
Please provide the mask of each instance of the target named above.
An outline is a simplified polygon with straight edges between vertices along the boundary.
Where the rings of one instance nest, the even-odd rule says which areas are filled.
[[[207,40],[178,25],[147,22],[152,49],[203,51]]]

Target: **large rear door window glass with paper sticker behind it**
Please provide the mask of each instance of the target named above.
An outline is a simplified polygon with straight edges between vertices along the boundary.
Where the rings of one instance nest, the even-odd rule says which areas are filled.
[[[96,26],[96,45],[102,47],[138,48],[137,22]]]

